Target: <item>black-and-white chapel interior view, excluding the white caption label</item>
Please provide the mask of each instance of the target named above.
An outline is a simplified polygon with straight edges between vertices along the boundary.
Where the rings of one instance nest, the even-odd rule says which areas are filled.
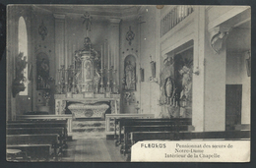
[[[250,139],[246,6],[11,5],[6,65],[11,161],[130,161],[155,133]]]

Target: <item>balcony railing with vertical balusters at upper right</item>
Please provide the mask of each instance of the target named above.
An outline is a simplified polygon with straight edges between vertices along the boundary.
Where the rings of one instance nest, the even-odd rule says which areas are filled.
[[[160,36],[174,28],[194,11],[190,5],[179,5],[174,7],[160,20]]]

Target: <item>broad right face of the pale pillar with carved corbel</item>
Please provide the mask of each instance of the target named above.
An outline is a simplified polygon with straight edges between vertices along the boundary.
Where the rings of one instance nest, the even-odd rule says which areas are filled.
[[[225,37],[230,28],[207,29],[205,35],[204,131],[225,130]],[[225,34],[216,36],[216,34]],[[213,40],[219,38],[219,40]],[[214,42],[213,42],[214,41]]]

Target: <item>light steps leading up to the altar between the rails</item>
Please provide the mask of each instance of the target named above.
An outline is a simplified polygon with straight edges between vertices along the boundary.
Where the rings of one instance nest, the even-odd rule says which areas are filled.
[[[105,121],[102,119],[79,119],[72,122],[73,140],[105,139]]]

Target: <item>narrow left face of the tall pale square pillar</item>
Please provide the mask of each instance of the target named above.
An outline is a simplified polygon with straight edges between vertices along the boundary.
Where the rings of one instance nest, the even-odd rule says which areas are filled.
[[[205,8],[195,7],[194,73],[192,85],[192,125],[195,131],[204,131],[204,78],[205,78]]]

